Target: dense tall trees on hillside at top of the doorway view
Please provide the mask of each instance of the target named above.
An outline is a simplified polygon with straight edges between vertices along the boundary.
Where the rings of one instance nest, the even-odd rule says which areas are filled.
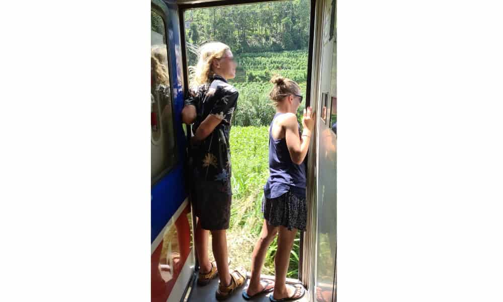
[[[186,37],[194,45],[224,42],[236,54],[302,49],[309,41],[309,16],[308,0],[189,10]]]

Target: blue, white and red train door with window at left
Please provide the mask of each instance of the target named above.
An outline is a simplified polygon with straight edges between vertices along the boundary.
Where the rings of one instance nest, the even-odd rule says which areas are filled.
[[[178,7],[151,1],[151,300],[180,301],[194,275],[184,184],[183,72]],[[133,223],[133,221],[132,221]]]

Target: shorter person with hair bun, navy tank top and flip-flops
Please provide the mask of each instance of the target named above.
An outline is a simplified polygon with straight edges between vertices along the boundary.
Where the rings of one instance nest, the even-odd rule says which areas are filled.
[[[301,298],[302,285],[287,285],[286,274],[290,252],[297,230],[305,231],[307,220],[305,163],[314,118],[311,107],[304,109],[303,130],[296,112],[302,102],[299,85],[290,79],[274,75],[269,96],[276,114],[269,127],[269,173],[264,186],[262,212],[264,224],[251,258],[249,286],[242,296],[250,299],[271,292],[271,301],[289,301]],[[261,270],[267,249],[278,235],[278,249],[274,258],[275,281],[261,279]]]

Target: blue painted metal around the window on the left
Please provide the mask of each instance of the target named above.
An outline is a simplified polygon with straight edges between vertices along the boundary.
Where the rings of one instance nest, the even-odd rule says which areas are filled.
[[[173,3],[166,4],[158,0],[152,0],[152,4],[161,9],[165,16],[167,47],[170,57],[170,80],[174,100],[173,116],[178,164],[151,188],[151,243],[187,197],[184,179],[187,140],[182,128],[181,116],[184,106],[184,79],[178,6]]]

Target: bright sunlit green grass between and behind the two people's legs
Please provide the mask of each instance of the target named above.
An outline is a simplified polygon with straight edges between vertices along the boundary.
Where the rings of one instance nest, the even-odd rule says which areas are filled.
[[[232,259],[231,268],[242,265],[250,271],[251,253],[264,221],[261,209],[263,187],[269,177],[269,127],[233,126],[230,131],[230,146],[233,196],[230,228],[227,231],[228,253]],[[287,273],[289,278],[298,277],[299,236],[300,232],[297,233],[290,255]],[[274,275],[277,247],[275,239],[268,250],[263,274]]]

